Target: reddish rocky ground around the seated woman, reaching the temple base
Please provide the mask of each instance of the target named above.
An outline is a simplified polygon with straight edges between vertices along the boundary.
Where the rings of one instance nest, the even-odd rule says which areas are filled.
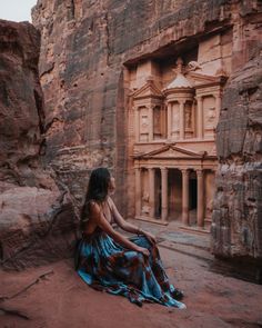
[[[185,292],[185,310],[145,304],[88,287],[72,260],[21,272],[0,271],[1,327],[262,327],[262,286],[213,269],[209,235],[141,223],[159,231],[159,248],[173,284]]]

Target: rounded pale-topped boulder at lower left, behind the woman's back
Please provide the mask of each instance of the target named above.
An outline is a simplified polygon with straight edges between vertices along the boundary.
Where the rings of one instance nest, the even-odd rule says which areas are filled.
[[[0,196],[2,266],[26,269],[71,257],[75,237],[71,202],[58,191],[18,187]]]

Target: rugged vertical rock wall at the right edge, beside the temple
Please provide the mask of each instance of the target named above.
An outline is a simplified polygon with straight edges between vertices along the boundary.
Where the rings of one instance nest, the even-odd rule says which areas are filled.
[[[253,258],[261,266],[262,12],[252,12],[249,6],[240,9],[242,20],[239,30],[234,29],[234,71],[223,95],[216,129],[220,165],[212,247],[216,256]]]

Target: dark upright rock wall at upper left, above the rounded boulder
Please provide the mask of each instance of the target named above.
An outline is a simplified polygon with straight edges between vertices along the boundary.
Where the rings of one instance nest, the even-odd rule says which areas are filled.
[[[44,119],[40,38],[29,23],[1,20],[0,42],[0,180],[36,186]]]

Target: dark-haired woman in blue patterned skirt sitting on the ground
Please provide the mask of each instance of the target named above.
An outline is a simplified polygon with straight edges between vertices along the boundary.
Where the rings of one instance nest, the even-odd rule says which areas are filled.
[[[142,301],[185,308],[183,294],[168,279],[154,237],[127,222],[110,198],[114,179],[105,168],[92,171],[81,215],[82,239],[78,245],[75,269],[90,286],[142,306]],[[138,236],[130,239],[112,228]]]

